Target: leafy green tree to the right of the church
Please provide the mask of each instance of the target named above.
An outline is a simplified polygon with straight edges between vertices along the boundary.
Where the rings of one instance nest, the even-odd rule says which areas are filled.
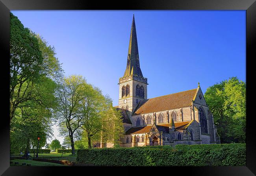
[[[246,83],[237,77],[208,87],[204,94],[221,143],[243,143],[246,132]]]

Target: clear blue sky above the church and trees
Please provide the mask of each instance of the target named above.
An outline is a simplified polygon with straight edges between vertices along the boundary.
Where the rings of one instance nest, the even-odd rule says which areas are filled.
[[[65,76],[79,74],[118,105],[135,16],[148,98],[246,81],[246,11],[11,11],[56,49]],[[54,130],[54,136],[62,143]],[[54,138],[53,138],[54,139]]]

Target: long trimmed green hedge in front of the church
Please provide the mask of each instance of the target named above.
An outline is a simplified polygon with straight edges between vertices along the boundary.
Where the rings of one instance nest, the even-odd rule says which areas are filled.
[[[93,148],[77,151],[77,162],[96,166],[245,166],[245,144]]]

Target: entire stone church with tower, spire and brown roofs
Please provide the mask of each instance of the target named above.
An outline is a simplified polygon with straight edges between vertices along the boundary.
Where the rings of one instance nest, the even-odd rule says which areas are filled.
[[[199,83],[195,89],[148,99],[147,81],[139,65],[133,17],[127,65],[119,79],[119,105],[115,107],[121,110],[125,129],[120,146],[220,143]],[[96,147],[113,147],[113,143]]]

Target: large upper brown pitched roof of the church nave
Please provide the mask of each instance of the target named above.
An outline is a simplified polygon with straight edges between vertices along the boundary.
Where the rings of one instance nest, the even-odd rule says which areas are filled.
[[[140,102],[133,115],[191,106],[197,89],[150,98]]]

